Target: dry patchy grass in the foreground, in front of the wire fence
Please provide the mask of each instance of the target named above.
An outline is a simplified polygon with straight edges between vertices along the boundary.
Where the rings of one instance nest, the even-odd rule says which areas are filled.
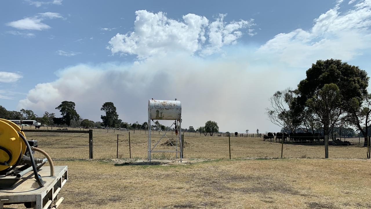
[[[371,208],[370,161],[210,160],[175,165],[57,161],[69,180],[59,209]]]

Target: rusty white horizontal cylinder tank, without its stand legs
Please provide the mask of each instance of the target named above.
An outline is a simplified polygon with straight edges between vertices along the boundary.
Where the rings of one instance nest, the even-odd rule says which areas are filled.
[[[148,117],[151,120],[180,119],[182,106],[178,100],[148,100]]]

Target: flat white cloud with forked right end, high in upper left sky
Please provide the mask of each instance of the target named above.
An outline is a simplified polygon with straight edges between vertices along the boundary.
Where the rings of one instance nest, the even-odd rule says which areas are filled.
[[[63,18],[63,16],[56,12],[38,13],[38,15],[35,15],[33,17],[25,17],[20,20],[8,22],[5,25],[20,30],[46,30],[51,28],[49,25],[46,25],[42,22],[46,18],[55,19]]]

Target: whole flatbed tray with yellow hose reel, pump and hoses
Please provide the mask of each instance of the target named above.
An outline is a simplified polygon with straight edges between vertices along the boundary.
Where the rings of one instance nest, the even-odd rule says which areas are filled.
[[[35,152],[45,158],[34,158]],[[46,162],[49,166],[42,167]],[[12,204],[57,209],[64,200],[58,194],[67,182],[67,169],[65,165],[54,166],[36,140],[27,141],[18,125],[0,119],[0,209]]]

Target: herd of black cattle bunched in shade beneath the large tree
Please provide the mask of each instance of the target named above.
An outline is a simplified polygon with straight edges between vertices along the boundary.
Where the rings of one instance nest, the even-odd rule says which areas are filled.
[[[274,141],[274,139],[280,141],[287,141],[287,138],[289,138],[289,141],[293,142],[301,142],[301,143],[313,143],[313,142],[319,142],[320,140],[324,140],[325,136],[322,136],[321,133],[293,133],[290,134],[287,133],[281,133],[278,132],[277,134],[274,132],[268,132],[267,135],[263,136],[264,141]],[[335,139],[332,141],[329,141],[329,145],[351,145],[349,141],[341,141],[340,139]]]

